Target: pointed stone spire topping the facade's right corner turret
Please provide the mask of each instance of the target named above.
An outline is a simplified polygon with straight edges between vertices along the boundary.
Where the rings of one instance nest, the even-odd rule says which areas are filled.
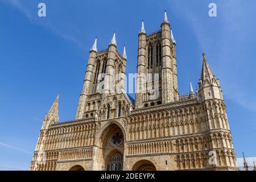
[[[223,100],[220,82],[213,75],[212,69],[210,69],[205,57],[205,53],[203,53],[203,65],[199,82],[199,92],[201,102],[213,98]]]

